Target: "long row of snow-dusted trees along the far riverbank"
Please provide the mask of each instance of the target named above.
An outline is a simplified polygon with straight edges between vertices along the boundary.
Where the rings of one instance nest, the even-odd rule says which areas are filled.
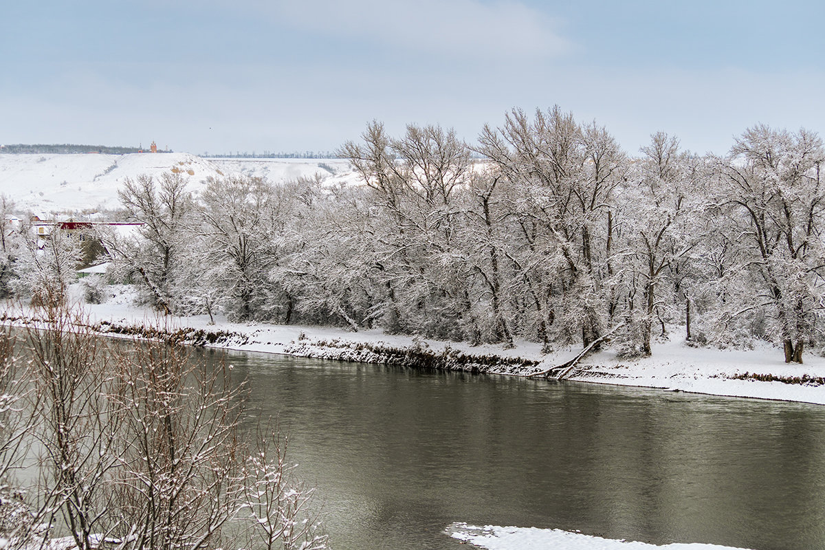
[[[476,162],[472,153],[484,160]],[[378,123],[338,154],[361,185],[180,175],[120,192],[140,238],[103,235],[119,280],[166,313],[336,324],[455,341],[822,342],[822,140],[757,125],[724,157],[653,134],[629,156],[555,107],[468,145]]]

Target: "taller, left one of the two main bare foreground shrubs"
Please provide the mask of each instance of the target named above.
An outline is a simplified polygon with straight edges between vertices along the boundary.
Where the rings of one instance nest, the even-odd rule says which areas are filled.
[[[106,478],[116,465],[106,342],[63,302],[35,313],[44,323],[26,330],[41,449],[35,515],[46,524],[60,520],[77,548],[92,550],[108,531]]]

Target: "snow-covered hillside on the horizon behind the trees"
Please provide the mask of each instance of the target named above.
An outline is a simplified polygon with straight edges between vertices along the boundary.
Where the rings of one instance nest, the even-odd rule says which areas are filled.
[[[320,175],[329,183],[355,181],[347,161],[304,158],[201,158],[189,153],[0,154],[0,193],[16,209],[76,212],[116,209],[125,178],[178,171],[198,190],[208,176],[247,174],[274,183]]]

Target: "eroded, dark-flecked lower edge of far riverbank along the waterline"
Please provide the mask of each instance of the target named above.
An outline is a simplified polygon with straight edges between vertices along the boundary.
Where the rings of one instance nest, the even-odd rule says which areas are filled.
[[[181,320],[177,318],[177,321]],[[384,341],[370,342],[365,341],[363,337],[359,339],[358,333],[345,334],[335,329],[326,329],[332,333],[328,338],[310,337],[306,336],[304,331],[299,331],[295,338],[287,337],[282,338],[283,341],[273,341],[271,334],[269,339],[257,337],[266,335],[266,330],[262,328],[266,326],[249,325],[244,327],[246,330],[233,331],[219,326],[171,327],[168,324],[163,325],[163,322],[158,322],[157,319],[155,322],[148,320],[134,322],[134,319],[132,321],[127,322],[122,319],[116,322],[111,318],[98,318],[97,320],[89,319],[85,326],[100,336],[116,338],[161,340],[186,346],[274,353],[321,360],[386,364],[411,369],[463,371],[471,374],[498,374],[527,378],[541,374],[550,366],[563,363],[563,360],[556,355],[543,359],[530,359],[515,355],[518,352],[517,349],[504,353],[491,351],[472,354],[453,347],[448,342],[432,342],[434,346],[443,347],[431,347],[430,343],[416,337],[395,337],[396,343],[394,344]],[[25,314],[10,316],[7,313],[0,316],[0,322],[16,327],[31,327],[43,323],[42,320]],[[290,326],[288,328],[299,330],[301,327]],[[313,330],[313,327],[305,328],[307,331]],[[466,347],[466,345],[463,346]],[[651,362],[651,358],[647,359]],[[655,360],[652,363],[653,368],[648,366],[641,370],[658,371],[658,363]],[[666,363],[662,361],[659,366],[663,367]],[[743,379],[739,371],[734,374],[714,372],[714,374],[705,374],[704,377],[701,373],[640,375],[639,372],[634,373],[632,369],[629,369],[627,364],[609,365],[582,361],[568,373],[565,381],[825,405],[825,385],[792,384],[775,380],[761,382],[758,378]]]

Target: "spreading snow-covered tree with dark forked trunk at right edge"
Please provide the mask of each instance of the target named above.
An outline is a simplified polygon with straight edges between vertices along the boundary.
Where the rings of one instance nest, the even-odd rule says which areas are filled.
[[[720,170],[719,204],[738,230],[755,298],[769,308],[788,363],[802,362],[823,297],[823,156],[817,134],[756,125]]]

